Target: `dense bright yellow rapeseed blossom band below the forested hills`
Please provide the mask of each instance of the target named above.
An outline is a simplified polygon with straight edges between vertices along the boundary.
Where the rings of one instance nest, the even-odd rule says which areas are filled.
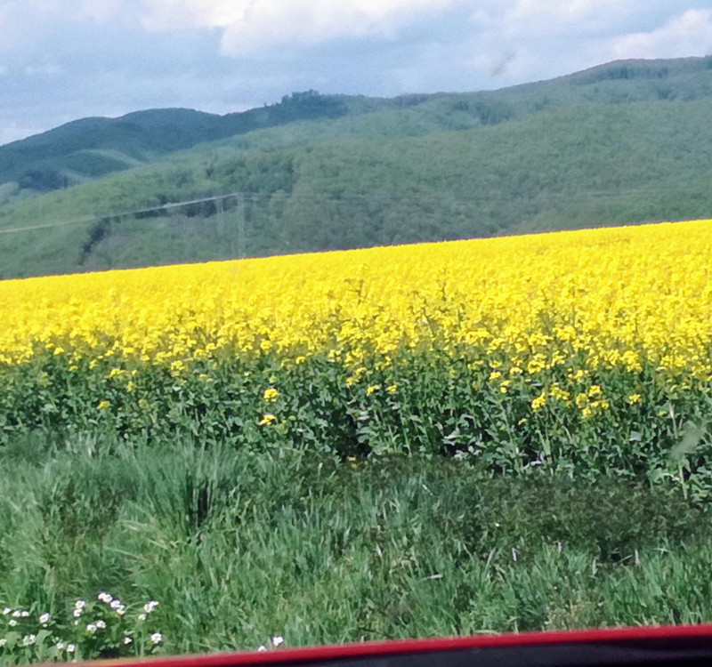
[[[705,220],[6,280],[0,363],[324,352],[358,368],[437,348],[493,374],[576,357],[707,382],[710,247]]]

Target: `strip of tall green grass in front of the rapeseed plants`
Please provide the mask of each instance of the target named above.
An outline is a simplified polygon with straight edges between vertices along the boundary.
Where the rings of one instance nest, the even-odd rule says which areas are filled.
[[[134,630],[157,599],[171,654],[712,620],[708,513],[605,476],[41,433],[0,470],[0,607],[51,613],[84,657],[117,655],[71,630],[99,591]]]

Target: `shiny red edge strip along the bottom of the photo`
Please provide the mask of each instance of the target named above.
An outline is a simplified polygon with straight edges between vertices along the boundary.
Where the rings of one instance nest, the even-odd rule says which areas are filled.
[[[368,655],[414,654],[428,651],[447,651],[465,648],[522,647],[552,644],[590,644],[598,642],[642,641],[645,639],[708,638],[712,641],[712,623],[702,625],[641,626],[634,628],[605,628],[576,631],[522,632],[504,635],[476,635],[449,639],[405,639],[398,641],[365,642],[326,647],[278,648],[263,652],[181,655],[132,660],[104,660],[90,664],[110,664],[112,667],[131,667],[155,663],[157,667],[228,667],[229,665],[258,665],[277,663],[305,663],[316,660],[336,660]]]

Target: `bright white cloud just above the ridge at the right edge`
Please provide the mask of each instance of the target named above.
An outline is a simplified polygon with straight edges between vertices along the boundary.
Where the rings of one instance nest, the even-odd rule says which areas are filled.
[[[681,58],[712,51],[712,10],[691,9],[662,28],[620,37],[616,58]]]

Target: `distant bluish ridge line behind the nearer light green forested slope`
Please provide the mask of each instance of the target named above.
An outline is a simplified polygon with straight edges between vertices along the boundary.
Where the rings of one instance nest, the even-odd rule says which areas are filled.
[[[459,110],[469,115],[460,119],[465,127],[588,102],[698,99],[712,94],[710,77],[706,76],[711,63],[712,59],[700,58],[621,60],[497,92],[419,94],[382,100],[307,91],[287,95],[277,104],[225,116],[167,108],[118,118],[83,118],[0,146],[0,203],[10,192],[20,198],[67,188],[204,141],[296,121],[408,108],[443,97],[461,100]]]

